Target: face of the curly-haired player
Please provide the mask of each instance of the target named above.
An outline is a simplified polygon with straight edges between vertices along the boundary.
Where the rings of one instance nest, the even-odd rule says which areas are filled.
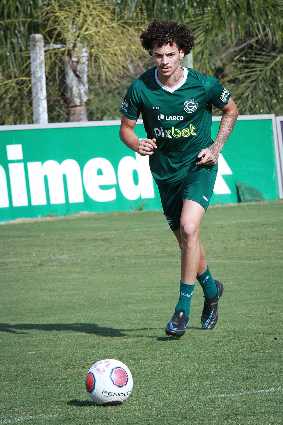
[[[171,77],[179,66],[180,59],[184,57],[184,49],[179,51],[177,45],[164,44],[154,47],[151,51],[158,73],[164,77]]]

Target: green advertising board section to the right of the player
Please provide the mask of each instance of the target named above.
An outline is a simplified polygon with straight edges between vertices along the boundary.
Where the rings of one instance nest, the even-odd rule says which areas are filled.
[[[217,135],[219,121],[212,122],[212,138]],[[281,195],[282,190],[279,193],[279,188],[282,187],[282,180],[277,175],[280,165],[275,155],[276,136],[275,116],[238,117],[218,160],[212,204],[237,202],[236,181],[255,188],[266,200],[277,199]]]

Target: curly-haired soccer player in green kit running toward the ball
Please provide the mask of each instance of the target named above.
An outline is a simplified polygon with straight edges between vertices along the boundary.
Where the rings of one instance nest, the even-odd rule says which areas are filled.
[[[181,337],[189,323],[195,280],[204,292],[202,329],[218,320],[223,285],[214,280],[199,240],[217,174],[217,160],[238,117],[238,109],[214,77],[181,66],[194,46],[190,29],[177,22],[154,20],[140,36],[155,67],[133,81],[122,102],[120,139],[140,155],[148,155],[165,218],[181,248],[180,296],[167,335]],[[211,139],[212,105],[222,111],[218,135]],[[142,113],[147,138],[134,127]]]

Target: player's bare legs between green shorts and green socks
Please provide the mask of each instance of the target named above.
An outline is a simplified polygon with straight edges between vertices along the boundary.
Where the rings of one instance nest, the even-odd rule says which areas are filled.
[[[195,201],[184,199],[180,229],[174,234],[181,248],[181,280],[193,285],[197,275],[207,269],[204,248],[199,241],[199,227],[204,208]]]

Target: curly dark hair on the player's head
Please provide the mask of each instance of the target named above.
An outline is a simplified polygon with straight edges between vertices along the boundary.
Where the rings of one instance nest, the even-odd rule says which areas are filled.
[[[164,44],[173,46],[175,42],[179,51],[185,49],[185,54],[189,54],[195,45],[195,37],[186,25],[168,21],[161,23],[157,19],[148,25],[147,30],[142,33],[140,39],[144,50],[149,51],[156,46],[161,47]],[[149,54],[151,55],[151,52]]]

